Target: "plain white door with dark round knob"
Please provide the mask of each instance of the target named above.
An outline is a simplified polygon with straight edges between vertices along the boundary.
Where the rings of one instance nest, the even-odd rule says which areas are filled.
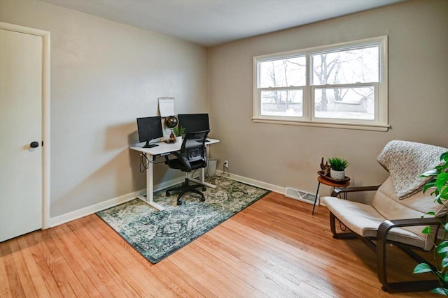
[[[42,228],[42,49],[0,29],[0,241]]]

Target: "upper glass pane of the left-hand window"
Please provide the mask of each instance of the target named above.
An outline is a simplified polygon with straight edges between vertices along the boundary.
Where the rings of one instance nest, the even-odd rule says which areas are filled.
[[[262,61],[259,66],[261,88],[304,86],[307,80],[305,57]]]

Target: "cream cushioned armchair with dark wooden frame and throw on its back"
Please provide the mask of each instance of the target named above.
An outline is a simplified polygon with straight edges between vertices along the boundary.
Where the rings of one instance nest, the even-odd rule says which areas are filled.
[[[377,254],[377,273],[382,289],[388,292],[414,292],[437,288],[437,281],[405,281],[388,283],[386,270],[386,244],[398,246],[417,262],[423,260],[414,250],[430,251],[434,247],[440,218],[447,209],[430,196],[423,194],[421,187],[425,179],[414,173],[402,179],[403,165],[415,165],[414,172],[423,173],[440,161],[440,154],[447,149],[414,142],[392,141],[384,147],[377,161],[391,174],[381,186],[340,188],[333,191],[323,202],[330,211],[330,228],[336,239],[362,240]],[[398,164],[398,167],[395,165]],[[408,174],[408,173],[407,173]],[[406,175],[406,174],[405,174]],[[336,198],[341,193],[375,191],[371,204]],[[350,198],[354,198],[353,194]],[[432,218],[421,218],[427,211],[433,211]],[[337,232],[336,220],[349,231]],[[423,234],[424,226],[431,225],[432,233]],[[433,265],[430,265],[433,269]]]

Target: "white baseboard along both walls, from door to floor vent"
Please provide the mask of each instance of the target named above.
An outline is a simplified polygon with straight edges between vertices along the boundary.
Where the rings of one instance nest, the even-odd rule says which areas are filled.
[[[223,174],[222,171],[216,170],[216,174]],[[265,188],[269,191],[274,191],[275,193],[285,193],[286,188],[276,186],[273,184],[267,184],[262,181],[242,177],[236,174],[228,174],[225,177],[228,177],[230,179],[249,184],[252,186],[258,186],[260,188]],[[157,184],[154,186],[154,191],[160,191],[161,189],[168,188],[169,186],[174,186],[176,184],[179,184],[183,181],[183,177],[172,179],[166,182],[162,182],[161,184]],[[108,209],[111,207],[114,207],[118,204],[122,204],[124,202],[133,200],[134,198],[137,198],[138,195],[144,195],[146,193],[146,189],[141,189],[140,191],[134,191],[133,193],[127,193],[126,195],[121,195],[118,198],[113,198],[111,200],[107,200],[105,202],[101,202],[98,204],[93,204],[89,207],[84,207],[81,209],[78,209],[76,211],[71,211],[66,214],[62,214],[60,216],[55,216],[50,218],[48,221],[48,228],[55,227],[56,225],[62,225],[63,223],[68,223],[69,221],[74,221],[75,219],[94,214],[95,212],[102,211],[104,209]]]

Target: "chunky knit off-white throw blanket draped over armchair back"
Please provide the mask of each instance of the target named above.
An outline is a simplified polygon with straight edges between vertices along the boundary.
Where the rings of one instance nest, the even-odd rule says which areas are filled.
[[[440,164],[440,154],[448,149],[407,141],[391,141],[377,157],[380,165],[391,174],[397,197],[404,198],[418,193],[429,178],[423,172]]]

